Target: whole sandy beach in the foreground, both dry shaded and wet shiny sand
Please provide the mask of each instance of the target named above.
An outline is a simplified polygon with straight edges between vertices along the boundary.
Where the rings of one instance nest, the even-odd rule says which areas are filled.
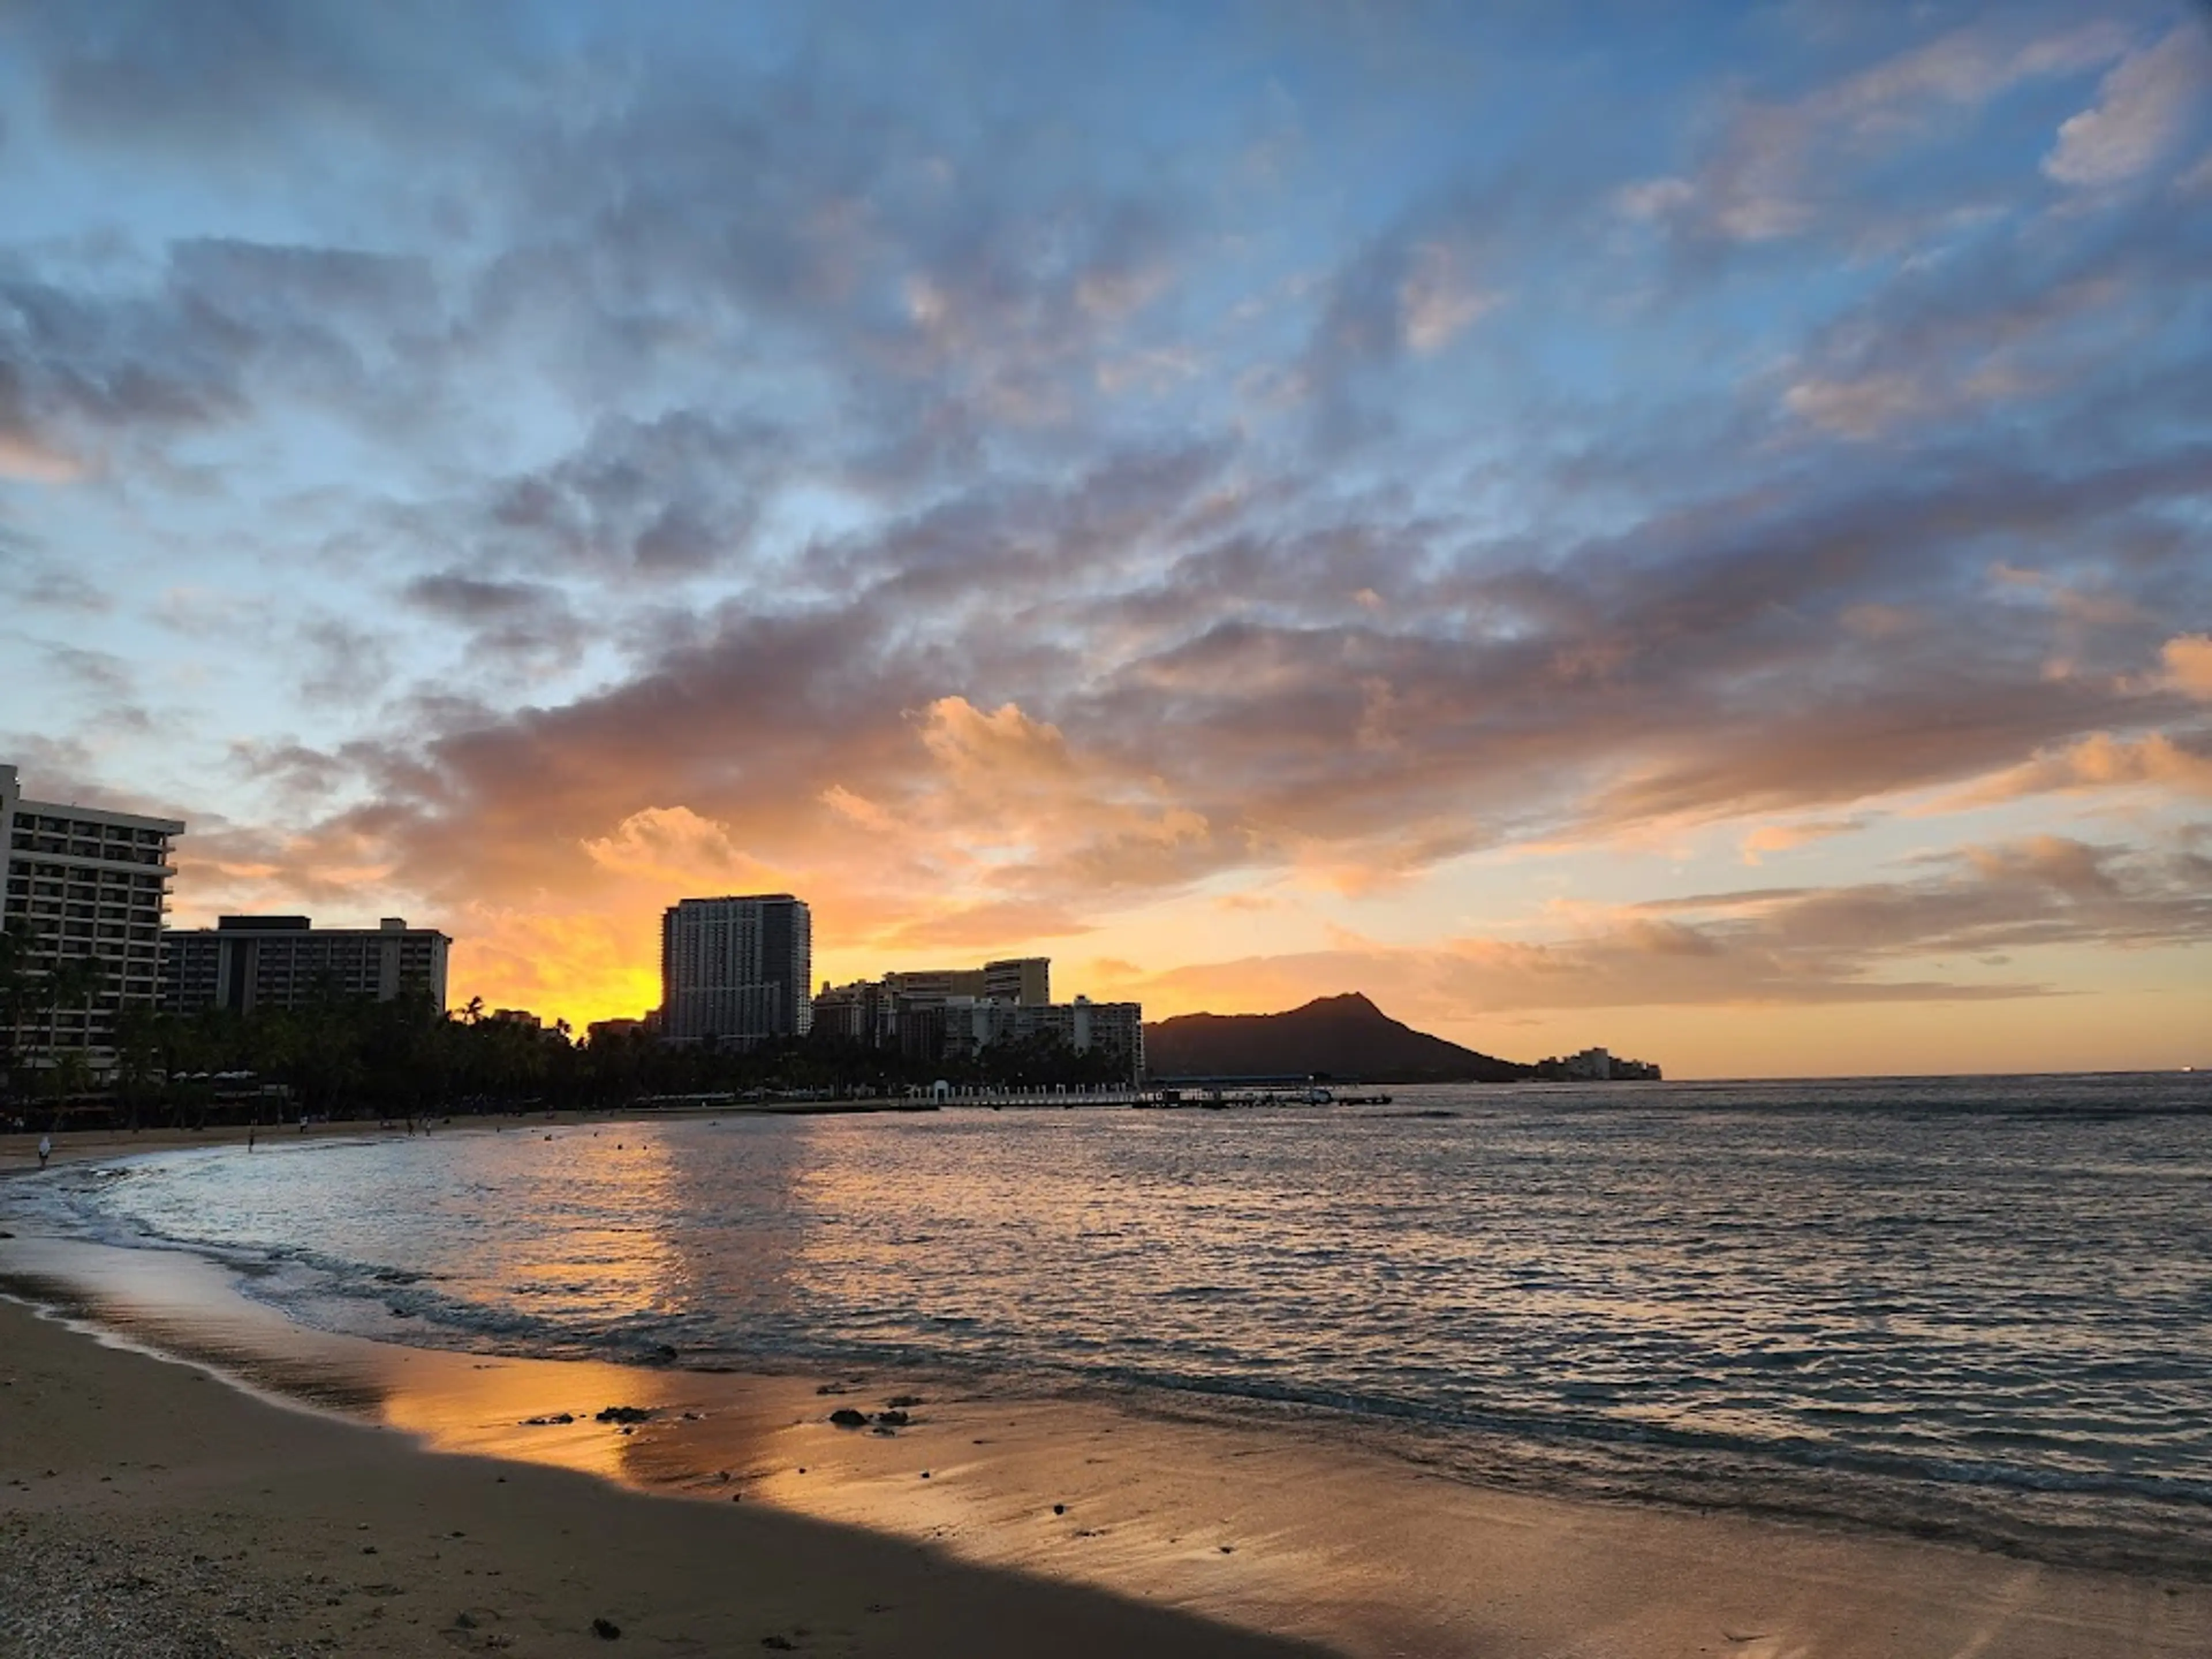
[[[774,1635],[794,1650],[971,1655],[1292,1650],[1272,1639],[1343,1655],[2084,1659],[2199,1655],[2212,1630],[2205,1584],[1482,1489],[1265,1420],[1175,1422],[894,1376],[816,1394],[812,1376],[403,1349],[288,1325],[177,1252],[15,1239],[0,1241],[0,1274],[84,1327],[0,1307],[13,1422],[0,1526],[18,1555],[0,1606],[33,1610],[18,1626],[53,1601],[38,1562],[131,1544],[139,1588],[117,1595],[208,1619],[234,1652],[312,1639],[447,1652],[478,1637],[489,1650],[502,1635],[526,1652],[593,1652],[593,1617],[675,1650]],[[239,1387],[208,1387],[199,1365]],[[894,1436],[827,1422],[907,1391],[925,1402]],[[655,1416],[595,1422],[606,1405]],[[560,1413],[573,1422],[524,1422]],[[405,1537],[376,1544],[403,1562],[363,1559],[363,1524]],[[469,1542],[438,1542],[453,1531]],[[195,1544],[164,1555],[164,1537]],[[265,1555],[274,1537],[283,1548]],[[504,1599],[487,1595],[493,1571]],[[217,1621],[204,1579],[248,1586],[221,1595],[257,1610],[250,1632]],[[310,1579],[330,1584],[307,1595]]]

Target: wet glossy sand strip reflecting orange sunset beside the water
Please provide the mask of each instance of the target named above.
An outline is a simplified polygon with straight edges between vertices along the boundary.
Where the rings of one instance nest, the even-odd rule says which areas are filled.
[[[405,1349],[292,1325],[237,1296],[219,1267],[184,1252],[18,1239],[0,1241],[0,1272],[18,1294],[64,1303],[69,1318],[104,1332],[60,1332],[55,1321],[38,1321],[66,1336],[58,1349],[53,1349],[60,1374],[75,1376],[80,1365],[97,1371],[111,1360],[153,1367],[137,1371],[142,1380],[133,1387],[170,1409],[175,1396],[197,1394],[192,1378],[212,1371],[234,1385],[212,1398],[230,1398],[248,1416],[290,1418],[305,1427],[288,1433],[310,1440],[338,1436],[367,1444],[369,1451],[354,1455],[374,1464],[394,1491],[442,1493],[460,1480],[456,1469],[491,1458],[509,1480],[522,1480],[522,1471],[582,1478],[580,1495],[562,1500],[577,1515],[604,1517],[644,1504],[677,1551],[719,1535],[726,1509],[841,1535],[852,1528],[865,1548],[925,1553],[940,1564],[933,1571],[1004,1575],[1053,1593],[1108,1597],[1124,1608],[1152,1599],[1210,1621],[1192,1637],[1197,1646],[1181,1650],[1223,1650],[1228,1628],[1241,1628],[1345,1655],[1573,1648],[1754,1659],[1807,1650],[1869,1659],[1891,1652],[2084,1659],[2197,1655],[2212,1630],[2212,1586],[2197,1582],[2068,1571],[1741,1513],[1697,1515],[1473,1486],[1358,1444],[1314,1444],[1267,1413],[1188,1422],[1104,1400],[1006,1398],[958,1385],[947,1391],[940,1380],[891,1374],[845,1374],[827,1383],[836,1394],[818,1394],[816,1376]],[[11,1305],[0,1318],[11,1336],[0,1345],[9,1356],[0,1374],[13,1380],[13,1334],[31,1314]],[[208,1369],[117,1352],[117,1340],[157,1354],[186,1352],[190,1365]],[[905,1407],[909,1422],[894,1433],[827,1422],[832,1409],[874,1416],[909,1394],[922,1400]],[[20,1411],[22,1396],[0,1398]],[[608,1405],[653,1416],[602,1425],[595,1413]],[[35,1495],[35,1486],[9,1484],[24,1480],[24,1462],[46,1458],[42,1467],[60,1467],[60,1453],[44,1447],[73,1444],[93,1455],[113,1433],[115,1418],[100,1400],[58,1394],[44,1409],[42,1427],[0,1462],[0,1517],[27,1493]],[[531,1422],[564,1413],[568,1422]],[[29,1451],[33,1440],[40,1451]],[[142,1451],[170,1469],[190,1455],[175,1444],[166,1453]],[[325,1447],[316,1455],[338,1453]],[[232,1484],[265,1486],[265,1471],[257,1471],[252,1464]],[[122,1480],[119,1469],[113,1475]],[[482,1484],[480,1473],[469,1480]],[[221,1486],[223,1473],[208,1469],[206,1482]],[[82,1489],[84,1480],[71,1486],[91,1504],[88,1515],[122,1502]],[[263,1500],[241,1513],[290,1533],[303,1495],[288,1486],[270,1495],[281,1500],[274,1511],[263,1513]],[[217,1500],[201,1493],[190,1502]],[[237,1502],[246,1498],[230,1491],[217,1506]],[[511,1546],[553,1548],[526,1526]],[[440,1577],[440,1566],[420,1571],[449,1599],[467,1588]],[[591,1575],[582,1582],[591,1584]],[[611,1595],[599,1590],[602,1599]],[[739,1619],[750,1604],[737,1597],[719,1613],[686,1606],[692,1619]],[[810,1628],[827,1628],[832,1619],[814,1617],[821,1624]],[[836,1604],[834,1617],[852,1632],[865,1624],[845,1604]],[[1062,1646],[1048,1630],[1026,1624],[1009,1632],[1004,1650]],[[447,1628],[445,1637],[451,1635]],[[869,1641],[854,1635],[830,1650],[936,1650],[909,1635],[894,1621]],[[763,1639],[754,1630],[743,1646]],[[1170,1652],[1177,1639],[1161,1637]],[[971,1632],[962,1650],[1000,1648],[978,1646]]]

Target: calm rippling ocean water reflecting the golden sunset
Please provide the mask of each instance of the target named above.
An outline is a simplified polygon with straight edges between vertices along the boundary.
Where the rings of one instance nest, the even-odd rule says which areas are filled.
[[[1265,1402],[1486,1480],[2212,1573],[2212,1077],[546,1135],[0,1203],[356,1334]]]

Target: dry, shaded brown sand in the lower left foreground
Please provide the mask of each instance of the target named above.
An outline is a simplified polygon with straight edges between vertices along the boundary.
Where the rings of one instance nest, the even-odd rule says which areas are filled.
[[[1296,1652],[768,1506],[427,1453],[20,1305],[0,1409],[11,1659]]]

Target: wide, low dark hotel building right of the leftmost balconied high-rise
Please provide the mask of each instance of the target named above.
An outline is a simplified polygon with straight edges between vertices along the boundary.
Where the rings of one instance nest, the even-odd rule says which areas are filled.
[[[316,998],[392,1002],[420,991],[445,1009],[445,969],[453,940],[434,927],[385,916],[376,927],[314,927],[305,916],[219,916],[215,927],[168,936],[161,1006],[303,1009]]]

